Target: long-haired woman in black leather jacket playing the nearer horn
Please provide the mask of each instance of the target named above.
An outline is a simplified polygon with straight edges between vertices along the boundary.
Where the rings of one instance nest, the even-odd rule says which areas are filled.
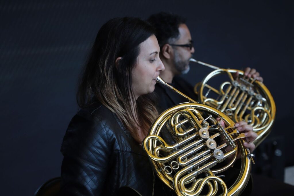
[[[164,70],[159,50],[153,27],[140,19],[101,27],[77,93],[81,110],[61,147],[61,195],[117,195],[121,187],[171,194],[141,146],[158,116],[151,92]]]

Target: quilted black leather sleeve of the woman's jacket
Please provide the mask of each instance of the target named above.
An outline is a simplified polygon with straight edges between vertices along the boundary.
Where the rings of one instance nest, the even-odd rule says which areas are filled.
[[[113,132],[101,119],[76,115],[63,139],[60,195],[102,195]]]

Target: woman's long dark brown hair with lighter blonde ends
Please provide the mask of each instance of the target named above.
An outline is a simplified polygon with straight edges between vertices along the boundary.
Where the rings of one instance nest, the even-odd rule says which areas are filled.
[[[137,142],[141,140],[136,127],[147,134],[158,116],[153,94],[141,95],[135,101],[132,91],[132,70],[140,53],[139,44],[154,32],[153,26],[137,18],[115,18],[106,22],[98,31],[77,92],[81,108],[90,105],[93,97],[98,99],[116,113]],[[116,66],[118,57],[122,59]]]

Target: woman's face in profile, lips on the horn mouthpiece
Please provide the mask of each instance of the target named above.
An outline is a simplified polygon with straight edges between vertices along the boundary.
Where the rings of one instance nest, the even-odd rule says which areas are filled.
[[[155,35],[150,36],[140,45],[140,54],[132,71],[132,86],[135,98],[154,91],[156,78],[164,70],[159,58],[159,45]]]

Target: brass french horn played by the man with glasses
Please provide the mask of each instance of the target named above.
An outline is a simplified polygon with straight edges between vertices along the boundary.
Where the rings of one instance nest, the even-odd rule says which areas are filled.
[[[260,81],[245,78],[241,70],[221,69],[195,59],[190,62],[215,69],[195,85],[198,101],[224,112],[235,122],[245,121],[253,126],[258,135],[253,143],[258,146],[268,136],[275,121],[275,102],[267,87]],[[239,76],[234,79],[232,74],[236,72]],[[213,87],[216,83],[211,81],[220,75],[228,77],[217,89]]]

